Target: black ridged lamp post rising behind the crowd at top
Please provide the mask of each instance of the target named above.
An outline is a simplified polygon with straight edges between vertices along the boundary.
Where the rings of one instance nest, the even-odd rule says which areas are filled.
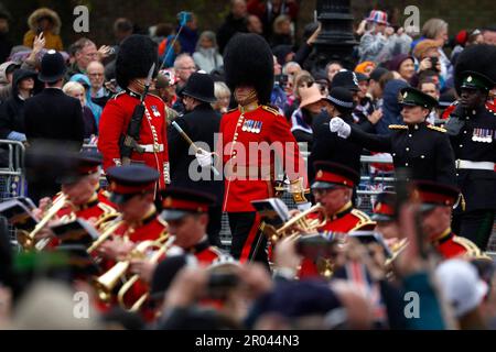
[[[356,64],[353,48],[358,43],[354,36],[349,0],[317,0],[316,10],[322,30],[314,43],[315,68],[323,70],[328,62],[338,61],[353,69]]]

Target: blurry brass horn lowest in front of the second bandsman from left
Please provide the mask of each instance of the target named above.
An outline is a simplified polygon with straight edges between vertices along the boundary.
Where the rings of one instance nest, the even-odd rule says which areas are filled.
[[[109,302],[114,289],[126,278],[132,258],[143,258],[145,253],[151,249],[160,249],[162,243],[159,241],[142,241],[129,253],[123,261],[117,262],[105,274],[100,275],[94,280],[96,292],[100,300]]]

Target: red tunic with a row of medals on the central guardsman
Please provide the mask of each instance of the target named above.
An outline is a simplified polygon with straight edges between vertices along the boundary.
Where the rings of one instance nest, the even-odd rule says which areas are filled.
[[[222,151],[217,152],[225,172],[224,211],[255,211],[250,201],[273,197],[274,155],[283,161],[288,178],[302,177],[305,187],[304,161],[288,121],[277,110],[259,106],[245,113],[228,111],[220,121],[220,133]]]

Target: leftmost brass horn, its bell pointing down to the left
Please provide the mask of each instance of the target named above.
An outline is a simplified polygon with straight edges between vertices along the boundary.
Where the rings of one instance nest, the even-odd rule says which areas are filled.
[[[36,242],[36,234],[46,227],[46,224],[53,220],[57,212],[68,204],[67,196],[62,194],[58,196],[52,206],[45,211],[43,218],[36,223],[31,232],[19,231],[18,242],[24,250],[35,249],[37,251],[43,250],[51,241],[51,239],[42,239]],[[62,221],[66,221],[66,218],[61,218]]]

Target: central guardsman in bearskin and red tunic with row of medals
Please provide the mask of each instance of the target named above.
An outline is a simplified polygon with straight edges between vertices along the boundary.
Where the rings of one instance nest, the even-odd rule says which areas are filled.
[[[220,121],[225,196],[223,210],[233,234],[230,254],[241,263],[267,263],[267,239],[252,200],[273,197],[276,161],[282,162],[296,204],[304,197],[306,170],[290,125],[278,110],[266,106],[273,86],[273,58],[267,42],[256,34],[239,34],[226,47],[226,81],[238,108]],[[201,163],[202,164],[202,163]]]

